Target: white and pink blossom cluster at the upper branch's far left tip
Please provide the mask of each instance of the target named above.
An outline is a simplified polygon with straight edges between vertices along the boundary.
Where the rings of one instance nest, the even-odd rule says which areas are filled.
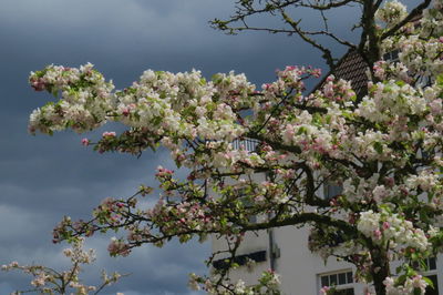
[[[91,63],[75,68],[49,65],[31,72],[30,83],[35,91],[47,90],[63,100],[50,102],[31,113],[29,131],[52,133],[65,128],[84,132],[105,123],[114,89]]]

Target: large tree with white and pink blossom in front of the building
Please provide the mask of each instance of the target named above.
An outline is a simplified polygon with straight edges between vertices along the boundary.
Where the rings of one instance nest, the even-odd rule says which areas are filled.
[[[307,31],[290,18],[291,9],[324,16],[347,4],[361,7],[356,45],[328,28]],[[279,294],[272,271],[257,286],[229,282],[236,251],[246,232],[308,225],[310,250],[352,263],[357,279],[372,284],[377,294],[423,294],[432,283],[420,275],[421,265],[443,250],[442,0],[425,0],[410,12],[398,1],[379,0],[241,0],[237,9],[213,24],[233,33],[261,30],[249,27],[248,18],[278,14],[289,29],[264,30],[300,35],[332,69],[336,59],[317,35],[357,50],[369,65],[368,94],[358,98],[349,81],[333,75],[307,94],[305,80],[321,75],[309,67],[287,67],[261,89],[234,72],[207,81],[199,71],[147,70],[122,91],[92,64],[33,72],[32,88],[60,100],[31,114],[31,133],[82,133],[120,122],[127,126],[123,133],[82,143],[100,153],[134,155],[164,146],[176,166],[188,171],[181,180],[172,167],[159,166],[162,193],[154,207],[137,205],[154,192],[142,185],[131,197],[104,200],[90,221],[65,217],[54,228],[54,242],[120,230],[109,252],[126,256],[144,244],[226,236],[228,267],[210,276],[193,274],[189,285],[214,294]],[[399,61],[381,59],[393,50],[400,51]],[[427,83],[418,83],[423,77]],[[256,141],[255,151],[233,144],[241,139]],[[258,181],[260,173],[266,181]],[[320,187],[327,182],[342,184],[342,193],[323,199]],[[268,217],[251,223],[254,215]],[[225,254],[214,253],[207,264]],[[392,261],[401,262],[398,276]]]

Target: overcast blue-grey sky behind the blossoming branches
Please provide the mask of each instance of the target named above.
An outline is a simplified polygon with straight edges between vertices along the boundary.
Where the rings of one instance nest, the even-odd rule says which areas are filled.
[[[173,169],[168,154],[96,154],[84,135],[27,133],[30,112],[49,95],[28,85],[29,72],[47,64],[95,64],[117,89],[146,69],[245,72],[260,85],[287,64],[322,67],[320,54],[286,35],[225,35],[207,21],[233,12],[231,0],[0,0],[0,264],[45,263],[61,268],[51,231],[63,215],[87,217],[106,196],[128,196],[141,183],[155,185],[154,169]],[[340,26],[351,26],[338,16]],[[271,24],[270,19],[256,20]],[[316,26],[318,19],[306,18]],[[109,130],[106,126],[101,131]],[[93,134],[86,134],[92,135]],[[205,274],[210,244],[143,246],[125,258],[109,257],[109,237],[94,237],[97,268],[132,273],[104,294],[190,294],[187,274]],[[28,288],[29,277],[0,273],[0,294]],[[91,277],[93,282],[94,278]]]

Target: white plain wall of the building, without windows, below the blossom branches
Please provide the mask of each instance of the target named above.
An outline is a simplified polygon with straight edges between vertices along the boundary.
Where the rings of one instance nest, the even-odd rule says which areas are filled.
[[[296,228],[295,226],[285,226],[272,230],[275,245],[279,248],[279,257],[275,262],[275,271],[280,275],[280,289],[286,295],[317,295],[320,291],[320,275],[328,273],[339,273],[352,271],[356,274],[356,267],[347,262],[338,262],[331,257],[324,264],[324,261],[312,254],[308,250],[308,227]],[[214,240],[213,251],[223,247],[223,242]],[[230,273],[230,278],[235,282],[243,279],[247,285],[257,284],[260,274],[270,267],[269,234],[267,231],[260,231],[259,235],[248,233],[245,236],[244,245],[239,254],[254,253],[256,251],[267,251],[267,261],[257,263],[250,272],[246,266],[241,266]],[[392,265],[394,271],[395,265]],[[426,272],[423,275],[437,275],[439,291],[443,294],[443,257],[437,256],[436,271]],[[349,286],[349,285],[348,285]],[[339,286],[340,287],[340,286]],[[364,284],[353,283],[352,287],[356,295],[364,294]]]

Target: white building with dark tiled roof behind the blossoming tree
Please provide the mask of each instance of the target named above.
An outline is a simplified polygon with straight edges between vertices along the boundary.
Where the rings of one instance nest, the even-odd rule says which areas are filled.
[[[390,59],[395,59],[395,53],[390,53]],[[358,96],[367,93],[367,64],[354,51],[349,51],[337,65],[333,74],[336,78],[351,81]],[[322,81],[323,82],[323,81]],[[319,85],[322,84],[320,82]],[[238,143],[235,143],[238,145]],[[250,142],[244,144],[250,151],[255,145]],[[264,174],[256,174],[257,181],[265,180]],[[341,192],[334,184],[323,185],[320,191],[324,199],[331,199]],[[257,216],[260,218],[260,216]],[[236,262],[240,266],[231,271],[230,278],[244,279],[246,284],[256,284],[260,273],[266,269],[276,271],[281,278],[281,292],[288,295],[316,295],[322,286],[336,286],[337,295],[364,294],[367,285],[356,283],[356,267],[352,264],[329,258],[326,263],[322,257],[312,254],[308,248],[309,228],[285,226],[261,231],[258,234],[247,233],[245,242],[238,250]],[[224,240],[213,238],[213,252],[226,246]],[[247,260],[256,262],[256,267],[249,269]],[[223,260],[214,262],[214,267],[223,267]],[[443,257],[427,260],[429,271],[423,275],[430,277],[435,289],[429,288],[426,294],[436,295],[443,291]],[[395,269],[393,265],[392,269]]]

